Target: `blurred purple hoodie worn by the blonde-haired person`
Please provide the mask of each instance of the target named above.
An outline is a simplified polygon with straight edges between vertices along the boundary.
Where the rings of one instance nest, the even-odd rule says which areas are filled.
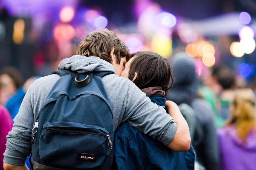
[[[218,130],[220,169],[256,168],[256,133],[249,133],[246,143],[236,136],[234,126],[224,126]]]

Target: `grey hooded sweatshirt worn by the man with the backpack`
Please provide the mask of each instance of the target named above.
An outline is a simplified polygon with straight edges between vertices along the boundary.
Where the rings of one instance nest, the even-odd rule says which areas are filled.
[[[99,57],[72,56],[62,60],[58,69],[68,69],[86,73],[111,71],[113,66]],[[12,131],[7,136],[4,162],[24,165],[31,152],[31,130],[35,118],[53,85],[60,78],[53,74],[37,79],[27,91],[19,113],[14,118]],[[133,127],[154,139],[169,144],[178,125],[166,114],[165,109],[152,103],[132,81],[115,74],[102,78],[113,111],[113,128],[128,121]]]

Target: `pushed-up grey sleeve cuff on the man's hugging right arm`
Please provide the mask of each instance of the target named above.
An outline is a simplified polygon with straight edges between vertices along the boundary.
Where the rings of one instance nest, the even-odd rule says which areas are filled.
[[[174,135],[177,131],[178,125],[176,123],[170,123],[169,128],[166,128],[166,131],[162,133],[164,136],[160,142],[164,145],[168,145],[174,138]]]

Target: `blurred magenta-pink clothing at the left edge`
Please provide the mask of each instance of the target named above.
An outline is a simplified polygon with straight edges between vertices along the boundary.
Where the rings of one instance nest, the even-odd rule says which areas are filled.
[[[0,105],[0,162],[3,164],[3,153],[6,149],[6,136],[8,132],[12,130],[12,117],[8,110]],[[0,166],[0,170],[3,170],[3,166]]]

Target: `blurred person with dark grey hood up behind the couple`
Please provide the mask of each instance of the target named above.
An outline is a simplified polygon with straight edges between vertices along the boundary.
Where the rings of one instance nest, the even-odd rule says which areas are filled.
[[[218,169],[218,142],[214,113],[211,105],[197,96],[198,81],[193,58],[185,52],[173,56],[174,85],[168,91],[168,100],[187,104],[195,113],[194,139],[191,139],[196,158],[207,170]]]

